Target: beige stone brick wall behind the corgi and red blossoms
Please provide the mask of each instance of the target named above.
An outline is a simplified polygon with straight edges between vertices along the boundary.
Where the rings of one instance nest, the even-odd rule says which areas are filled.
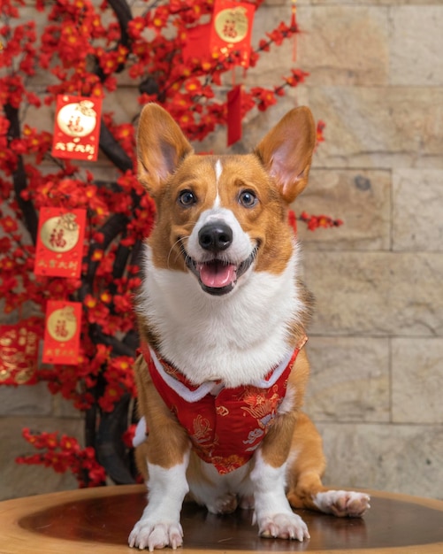
[[[265,4],[256,37],[289,20],[289,1]],[[294,205],[345,222],[315,233],[300,226],[304,278],[317,297],[306,410],[324,436],[325,481],[441,498],[443,4],[299,0],[298,19],[297,63],[310,77],[249,115],[233,150],[249,150],[296,104],[327,125]],[[287,74],[291,52],[288,44],[268,54],[248,81]],[[129,94],[111,99],[117,117],[137,109]],[[202,150],[225,150],[225,133]],[[113,172],[103,159],[94,169]],[[80,437],[82,422],[43,386],[0,387],[0,498],[75,488],[69,476],[13,463],[30,450],[22,427]]]

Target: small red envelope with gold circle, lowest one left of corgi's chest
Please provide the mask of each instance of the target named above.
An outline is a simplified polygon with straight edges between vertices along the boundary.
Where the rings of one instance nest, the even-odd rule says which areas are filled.
[[[44,329],[43,363],[78,365],[80,330],[80,302],[48,301]]]

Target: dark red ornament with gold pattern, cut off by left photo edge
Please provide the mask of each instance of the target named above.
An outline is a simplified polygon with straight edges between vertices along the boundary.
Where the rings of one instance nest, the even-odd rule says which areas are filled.
[[[37,358],[42,319],[29,318],[0,326],[0,385],[32,385],[37,382]]]

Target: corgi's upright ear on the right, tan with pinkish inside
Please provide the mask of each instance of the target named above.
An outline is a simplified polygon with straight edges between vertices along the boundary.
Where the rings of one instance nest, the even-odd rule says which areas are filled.
[[[316,142],[314,119],[309,108],[302,106],[286,113],[256,147],[256,156],[275,179],[288,204],[308,184]]]

